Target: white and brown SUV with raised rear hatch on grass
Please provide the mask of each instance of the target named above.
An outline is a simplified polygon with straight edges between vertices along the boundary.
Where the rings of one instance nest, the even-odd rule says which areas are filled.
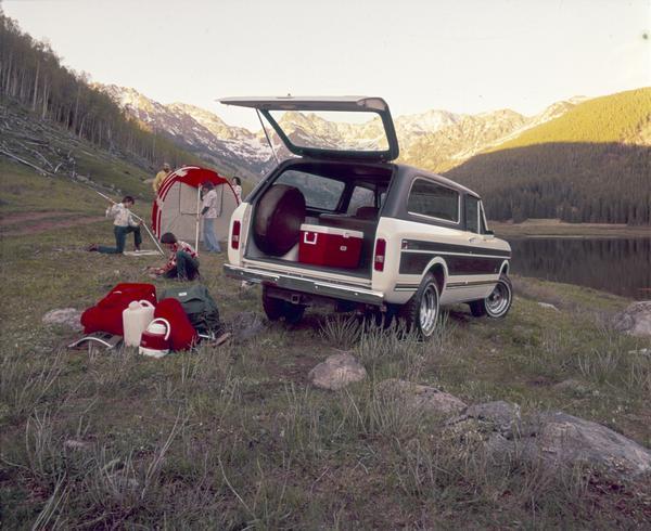
[[[465,302],[476,316],[507,314],[509,244],[487,230],[477,194],[392,163],[398,142],[384,100],[221,103],[255,108],[273,129],[271,145],[280,140],[293,154],[230,223],[226,274],[263,285],[269,319],[296,322],[316,305],[378,310],[429,337],[442,306]],[[308,132],[302,120],[312,125]]]

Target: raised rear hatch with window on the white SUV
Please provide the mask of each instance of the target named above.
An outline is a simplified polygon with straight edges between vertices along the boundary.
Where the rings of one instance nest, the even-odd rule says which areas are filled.
[[[382,98],[254,96],[219,102],[255,108],[299,157],[385,163],[399,154],[391,112]]]

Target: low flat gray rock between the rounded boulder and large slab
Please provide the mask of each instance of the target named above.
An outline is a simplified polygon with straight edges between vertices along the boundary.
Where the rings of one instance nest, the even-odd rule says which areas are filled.
[[[383,394],[405,399],[408,407],[424,413],[455,415],[467,407],[467,404],[454,394],[412,381],[391,378],[381,381],[378,390]]]

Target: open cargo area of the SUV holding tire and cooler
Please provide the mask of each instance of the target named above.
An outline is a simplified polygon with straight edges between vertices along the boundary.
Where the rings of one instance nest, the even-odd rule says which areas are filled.
[[[295,161],[252,198],[245,257],[370,279],[393,167]]]

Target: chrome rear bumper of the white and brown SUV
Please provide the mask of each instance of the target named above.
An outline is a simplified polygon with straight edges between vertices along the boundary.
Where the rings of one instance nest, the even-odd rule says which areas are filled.
[[[286,273],[273,273],[259,269],[240,268],[230,263],[224,266],[224,272],[231,279],[239,279],[256,284],[270,284],[283,289],[332,297],[333,299],[352,300],[373,306],[381,306],[384,302],[384,295],[380,292],[332,284],[316,279],[305,279]]]

